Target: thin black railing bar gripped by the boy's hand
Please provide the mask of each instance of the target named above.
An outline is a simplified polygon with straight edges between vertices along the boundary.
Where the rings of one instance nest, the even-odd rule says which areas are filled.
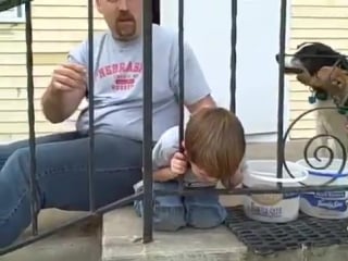
[[[184,62],[184,0],[178,1],[178,107],[179,107],[179,127],[178,127],[178,148],[184,152],[184,99],[185,99],[185,62]],[[184,189],[184,178],[178,178],[179,189]]]

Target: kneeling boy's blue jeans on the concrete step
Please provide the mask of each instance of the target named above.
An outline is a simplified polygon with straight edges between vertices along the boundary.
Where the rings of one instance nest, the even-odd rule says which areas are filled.
[[[153,189],[177,189],[177,182],[154,183]],[[142,187],[136,189],[141,190]],[[156,196],[153,206],[153,228],[174,232],[184,226],[212,228],[226,219],[226,210],[219,202],[213,189],[204,188],[203,194],[190,196]],[[142,216],[142,201],[134,202],[135,211]]]

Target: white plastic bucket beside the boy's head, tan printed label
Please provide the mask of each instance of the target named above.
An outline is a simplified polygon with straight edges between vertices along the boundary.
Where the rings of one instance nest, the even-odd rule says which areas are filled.
[[[247,170],[244,173],[244,187],[248,188],[276,188],[277,183],[284,187],[298,187],[300,182],[308,177],[304,167],[295,162],[287,161],[287,166],[293,178],[283,167],[283,178],[276,177],[277,164],[275,160],[247,161]],[[285,223],[294,221],[299,213],[299,194],[266,194],[250,195],[244,197],[244,211],[252,220],[269,223]]]

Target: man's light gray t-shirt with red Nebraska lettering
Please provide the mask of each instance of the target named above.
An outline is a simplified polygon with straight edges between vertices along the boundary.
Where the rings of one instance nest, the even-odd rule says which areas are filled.
[[[153,140],[179,123],[178,36],[153,25]],[[185,104],[210,94],[198,61],[185,44]],[[69,60],[88,65],[88,41],[69,54]],[[95,36],[95,129],[142,140],[142,39],[116,41],[110,32]],[[80,113],[76,128],[88,132],[88,110]]]

